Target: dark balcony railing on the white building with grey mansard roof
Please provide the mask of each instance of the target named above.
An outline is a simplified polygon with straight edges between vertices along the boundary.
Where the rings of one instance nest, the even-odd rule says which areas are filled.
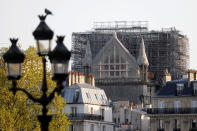
[[[77,114],[70,114],[68,116],[69,120],[97,120],[97,121],[103,121],[104,117],[101,115],[95,115],[95,114],[84,114],[84,113],[77,113]]]

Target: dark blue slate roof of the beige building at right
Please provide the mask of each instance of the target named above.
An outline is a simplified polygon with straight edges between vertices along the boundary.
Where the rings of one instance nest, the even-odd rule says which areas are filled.
[[[193,95],[193,83],[197,81],[191,81],[188,85],[187,80],[175,80],[167,82],[164,87],[162,87],[155,97],[175,97],[177,96],[177,84],[184,84],[184,88],[179,96],[194,96]]]

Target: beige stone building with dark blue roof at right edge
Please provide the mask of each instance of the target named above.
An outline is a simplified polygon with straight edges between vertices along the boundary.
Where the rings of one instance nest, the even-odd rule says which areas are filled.
[[[197,131],[196,72],[187,73],[187,80],[168,81],[153,97],[151,131]]]

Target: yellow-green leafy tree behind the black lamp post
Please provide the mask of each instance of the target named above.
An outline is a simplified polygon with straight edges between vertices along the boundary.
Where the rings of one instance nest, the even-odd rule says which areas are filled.
[[[2,49],[5,52],[6,49]],[[23,63],[22,78],[17,81],[17,87],[24,88],[34,97],[40,97],[42,83],[42,59],[37,55],[34,47],[29,47],[24,51],[26,58]],[[56,87],[51,80],[51,73],[47,71],[48,94]],[[0,130],[40,130],[37,115],[41,115],[41,106],[32,102],[27,96],[18,91],[15,96],[9,91],[12,86],[6,77],[6,67],[2,57],[0,57]],[[48,106],[49,114],[53,114],[49,130],[66,130],[70,124],[66,115],[61,110],[66,106],[61,96],[55,98]]]

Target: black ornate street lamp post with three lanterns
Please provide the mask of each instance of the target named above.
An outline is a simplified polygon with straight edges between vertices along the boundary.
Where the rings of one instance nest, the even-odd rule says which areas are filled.
[[[48,11],[48,10],[47,10]],[[34,98],[28,91],[23,88],[17,87],[16,80],[21,77],[21,64],[24,61],[25,55],[16,46],[18,39],[10,39],[12,46],[3,55],[4,61],[7,65],[7,77],[12,80],[12,88],[10,90],[15,95],[17,91],[24,92],[29,99],[42,105],[42,115],[38,116],[38,120],[41,124],[42,131],[48,131],[49,122],[52,116],[47,115],[48,109],[47,105],[52,101],[55,93],[61,93],[63,86],[63,81],[66,80],[68,76],[68,63],[70,60],[71,52],[64,46],[63,40],[64,36],[57,37],[57,45],[53,51],[51,51],[51,40],[53,38],[53,31],[45,23],[46,15],[40,15],[40,24],[33,32],[33,36],[37,43],[38,55],[42,57],[43,62],[43,81],[42,81],[42,96],[40,98]],[[46,56],[52,63],[53,80],[57,82],[57,87],[52,91],[51,94],[47,96],[47,80],[46,80]]]

